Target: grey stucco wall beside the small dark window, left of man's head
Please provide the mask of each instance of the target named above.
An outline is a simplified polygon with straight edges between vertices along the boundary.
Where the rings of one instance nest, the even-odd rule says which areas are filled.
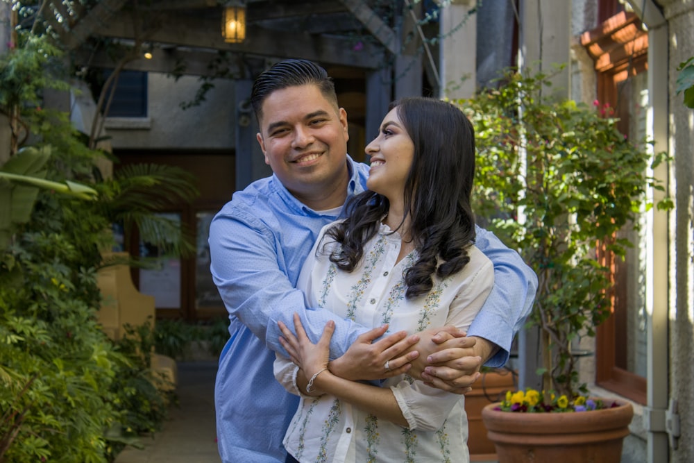
[[[234,82],[214,81],[199,106],[183,110],[201,81],[184,76],[149,74],[148,117],[110,118],[106,131],[114,149],[233,149],[235,140]]]

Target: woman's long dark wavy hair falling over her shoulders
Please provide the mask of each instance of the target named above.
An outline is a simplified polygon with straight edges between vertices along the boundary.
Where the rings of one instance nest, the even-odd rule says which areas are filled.
[[[432,275],[446,278],[470,261],[468,247],[475,241],[475,218],[470,195],[475,176],[475,130],[459,108],[433,98],[412,97],[391,103],[397,108],[414,158],[405,183],[405,210],[411,218],[410,235],[419,259],[407,270],[407,298],[430,292]],[[331,262],[353,271],[388,212],[388,200],[366,191],[346,205],[347,219],[327,235],[341,246]],[[402,225],[402,224],[401,224]]]

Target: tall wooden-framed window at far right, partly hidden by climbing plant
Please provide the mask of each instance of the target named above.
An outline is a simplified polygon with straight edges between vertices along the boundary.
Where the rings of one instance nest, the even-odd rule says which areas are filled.
[[[602,3],[616,5],[616,1]],[[582,35],[582,44],[595,62],[601,110],[618,117],[620,131],[639,142],[645,134],[648,106],[648,33],[634,14],[625,12],[621,5],[616,8],[616,15]],[[633,228],[620,233],[635,244],[625,260],[599,251],[602,262],[612,269],[615,286],[611,294],[613,313],[598,327],[595,382],[646,403],[645,236]]]

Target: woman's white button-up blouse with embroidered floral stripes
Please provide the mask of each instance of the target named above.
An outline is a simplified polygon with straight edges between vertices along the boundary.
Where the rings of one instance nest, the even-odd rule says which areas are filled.
[[[325,237],[325,252],[316,253],[329,226],[321,230],[298,280],[308,307],[328,308],[367,328],[389,323],[389,332],[444,325],[466,330],[493,286],[493,264],[471,246],[470,262],[462,271],[444,280],[434,276],[428,294],[408,300],[403,275],[416,262],[417,251],[396,263],[400,236],[383,225],[364,246],[357,269],[341,271],[327,256],[335,242]],[[403,428],[335,396],[301,394],[297,371],[291,361],[277,357],[276,378],[301,396],[284,439],[285,448],[299,462],[469,461],[464,396],[428,387],[407,375],[382,381],[409,423]]]

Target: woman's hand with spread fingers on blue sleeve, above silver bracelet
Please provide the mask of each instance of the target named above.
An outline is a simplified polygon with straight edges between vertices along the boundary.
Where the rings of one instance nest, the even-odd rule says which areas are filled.
[[[310,378],[315,373],[328,367],[328,357],[330,355],[330,339],[332,333],[335,332],[335,322],[330,320],[325,323],[323,334],[317,344],[313,344],[311,339],[306,335],[301,319],[298,314],[294,314],[294,335],[289,328],[278,321],[282,336],[280,336],[280,344],[287,350],[291,361],[301,368],[307,378]]]

